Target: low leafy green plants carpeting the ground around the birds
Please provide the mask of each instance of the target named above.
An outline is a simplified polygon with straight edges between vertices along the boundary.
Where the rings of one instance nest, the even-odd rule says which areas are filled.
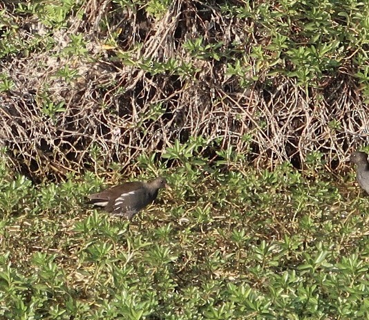
[[[131,225],[82,204],[102,185],[91,173],[34,186],[1,161],[1,318],[368,319],[368,198],[352,176],[317,157],[305,174],[209,167],[191,145],[165,158],[173,190]]]

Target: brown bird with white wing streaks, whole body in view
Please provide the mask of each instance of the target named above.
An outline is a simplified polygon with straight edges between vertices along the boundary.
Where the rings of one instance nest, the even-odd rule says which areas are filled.
[[[132,220],[133,216],[158,196],[159,189],[169,188],[165,178],[149,182],[125,182],[88,196],[88,204],[103,207],[105,211]]]

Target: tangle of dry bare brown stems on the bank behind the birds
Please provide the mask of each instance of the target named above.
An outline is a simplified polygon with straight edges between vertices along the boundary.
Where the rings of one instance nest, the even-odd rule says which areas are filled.
[[[251,150],[256,165],[290,160],[303,168],[308,153],[321,151],[328,168],[340,168],[368,132],[353,66],[317,77],[316,87],[270,76],[253,55],[270,36],[255,19],[227,15],[216,3],[176,0],[152,13],[149,2],[87,1],[66,15],[68,28],[55,30],[6,5],[24,47],[3,55],[0,66],[14,83],[0,93],[0,143],[12,162],[32,178],[60,178],[97,162],[129,171],[140,153],[160,156],[175,140],[201,135],[210,159],[231,145]],[[205,49],[189,49],[187,41],[199,38]],[[247,73],[227,72],[236,61]]]

